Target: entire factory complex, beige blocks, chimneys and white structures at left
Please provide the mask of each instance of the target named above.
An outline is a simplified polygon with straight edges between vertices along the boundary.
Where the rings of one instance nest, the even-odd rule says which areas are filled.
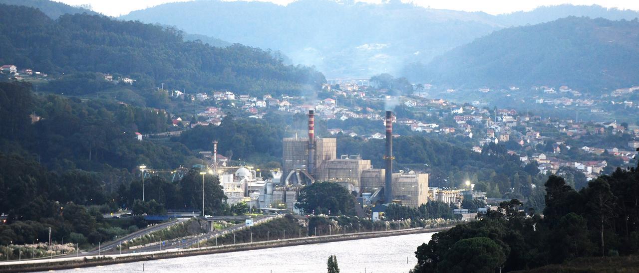
[[[272,178],[258,177],[256,170],[237,168],[220,174],[220,184],[228,203],[247,202],[261,210],[295,208],[300,189],[315,182],[336,182],[355,191],[362,205],[401,203],[419,207],[429,199],[428,173],[393,173],[392,112],[386,112],[386,150],[384,168],[374,168],[370,159],[358,155],[337,156],[335,138],[317,138],[314,132],[314,112],[309,111],[308,137],[282,140],[282,169],[272,172]],[[215,147],[217,150],[217,147]],[[217,156],[213,156],[214,158]],[[213,162],[213,167],[217,166]]]

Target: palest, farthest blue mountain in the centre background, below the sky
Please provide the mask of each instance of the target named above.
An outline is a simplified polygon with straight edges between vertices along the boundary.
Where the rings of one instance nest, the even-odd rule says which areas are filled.
[[[632,19],[639,13],[565,5],[494,16],[434,10],[400,1],[300,0],[279,6],[259,1],[199,0],[161,4],[121,18],[159,22],[188,33],[281,50],[295,63],[314,65],[328,77],[370,77],[397,73],[406,63],[427,63],[504,27],[567,15]]]

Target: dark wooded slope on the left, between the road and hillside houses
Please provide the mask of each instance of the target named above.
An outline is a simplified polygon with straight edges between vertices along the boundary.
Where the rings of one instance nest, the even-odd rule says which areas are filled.
[[[54,240],[71,236],[80,244],[96,243],[147,225],[143,219],[114,225],[102,213],[119,207],[153,213],[201,203],[194,194],[201,193],[201,177],[194,170],[175,184],[152,177],[146,202],[139,201],[136,166],[199,162],[184,145],[135,139],[137,131],[166,130],[166,112],[0,83],[0,115],[0,192],[10,193],[0,195],[2,213],[10,215],[9,225],[0,225],[0,242],[45,240],[45,227],[53,226]],[[219,183],[207,177],[206,185],[206,210],[229,209]]]

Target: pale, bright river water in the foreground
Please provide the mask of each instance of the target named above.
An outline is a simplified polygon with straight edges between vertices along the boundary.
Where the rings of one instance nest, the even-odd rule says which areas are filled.
[[[346,240],[304,246],[274,247],[164,260],[120,263],[63,272],[326,272],[328,256],[337,256],[340,272],[408,272],[417,263],[415,250],[433,233]],[[408,258],[408,263],[406,263]]]

